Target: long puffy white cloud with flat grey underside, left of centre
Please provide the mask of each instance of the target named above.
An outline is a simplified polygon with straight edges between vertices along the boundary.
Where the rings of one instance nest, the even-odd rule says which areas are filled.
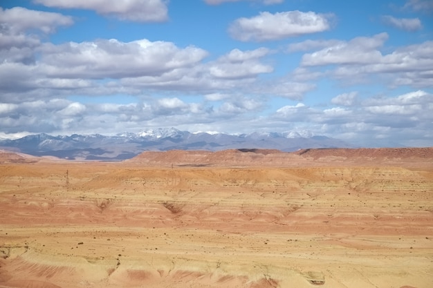
[[[41,69],[48,77],[122,78],[161,75],[196,64],[208,55],[194,46],[178,48],[172,42],[141,39],[122,42],[100,39],[92,42],[44,44]]]

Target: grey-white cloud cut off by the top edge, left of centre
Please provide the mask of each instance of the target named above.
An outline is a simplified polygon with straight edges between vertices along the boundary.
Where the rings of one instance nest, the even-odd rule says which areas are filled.
[[[163,0],[33,0],[47,7],[94,10],[100,15],[137,22],[166,21],[167,1]]]

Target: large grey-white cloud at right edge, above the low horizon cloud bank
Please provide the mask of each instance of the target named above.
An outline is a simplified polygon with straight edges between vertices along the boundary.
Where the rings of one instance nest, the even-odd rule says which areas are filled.
[[[304,54],[301,68],[328,66],[330,70],[326,70],[326,75],[344,80],[345,84],[381,81],[391,88],[402,85],[431,87],[433,59],[430,55],[433,41],[402,46],[384,55],[380,48],[387,38],[386,33],[374,37],[356,37]]]

